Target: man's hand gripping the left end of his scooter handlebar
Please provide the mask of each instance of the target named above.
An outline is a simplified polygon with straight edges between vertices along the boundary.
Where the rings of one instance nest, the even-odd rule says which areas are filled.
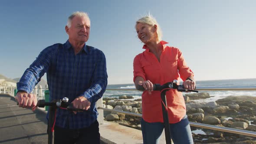
[[[18,92],[15,96],[16,101],[19,103],[19,107],[32,108],[35,111],[37,106],[37,98],[34,94],[28,94],[26,92]]]

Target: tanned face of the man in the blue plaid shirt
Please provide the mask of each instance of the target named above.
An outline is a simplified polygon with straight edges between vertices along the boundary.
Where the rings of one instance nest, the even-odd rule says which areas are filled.
[[[66,26],[66,32],[70,40],[85,43],[89,39],[90,21],[85,17],[75,16],[72,19],[70,28]]]

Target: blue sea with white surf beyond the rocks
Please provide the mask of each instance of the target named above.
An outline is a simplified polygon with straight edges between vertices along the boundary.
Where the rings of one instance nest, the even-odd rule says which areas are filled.
[[[182,82],[180,82],[182,84]],[[197,81],[196,86],[198,89],[203,88],[256,88],[256,79],[225,79],[225,80],[207,80]],[[117,89],[117,90],[108,90]],[[207,92],[210,94],[210,98],[194,100],[198,102],[210,102],[217,101],[218,99],[225,98],[230,95],[248,95],[255,96],[256,91],[199,91]],[[193,93],[193,92],[191,92]],[[121,95],[133,96],[134,99],[141,98],[142,92],[135,89],[134,84],[119,84],[119,85],[108,85],[106,92],[103,94],[104,97],[118,98]],[[183,95],[188,94],[183,92]]]

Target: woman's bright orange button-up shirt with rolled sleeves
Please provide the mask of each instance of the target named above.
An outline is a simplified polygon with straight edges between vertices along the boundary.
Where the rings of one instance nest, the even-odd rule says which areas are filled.
[[[146,45],[144,52],[135,56],[133,62],[134,81],[137,76],[144,80],[150,80],[153,84],[165,84],[181,77],[186,80],[189,76],[194,76],[187,66],[182,53],[175,47],[165,46],[167,42],[161,41],[163,52],[160,62],[149,52]],[[186,114],[186,105],[181,92],[169,90],[166,92],[168,116],[170,123],[177,123]],[[147,122],[163,122],[161,107],[161,92],[153,91],[151,95],[148,91],[142,93],[142,118]]]

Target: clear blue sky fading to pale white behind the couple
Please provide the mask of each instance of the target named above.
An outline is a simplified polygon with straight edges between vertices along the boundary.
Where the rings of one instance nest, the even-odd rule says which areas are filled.
[[[65,43],[75,11],[89,13],[86,44],[105,53],[108,84],[133,83],[143,52],[135,21],[148,12],[197,80],[256,78],[256,0],[1,0],[0,74],[21,77],[40,51]]]

